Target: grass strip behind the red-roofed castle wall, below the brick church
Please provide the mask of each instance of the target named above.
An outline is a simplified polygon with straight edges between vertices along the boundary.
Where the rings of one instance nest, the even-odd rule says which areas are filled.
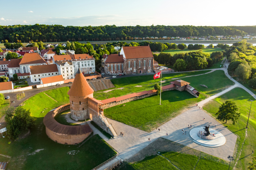
[[[191,72],[184,72],[184,73],[169,73],[169,74],[162,74],[162,81],[166,81],[162,83],[162,85],[169,85],[172,78],[178,77],[186,77],[190,75],[198,75],[207,73],[210,70],[205,71],[191,71]],[[153,79],[153,75],[142,75],[136,77],[124,77],[124,78],[117,78],[112,79],[111,82],[114,84],[116,88],[124,88],[124,89],[115,89],[109,92],[104,92],[106,90],[100,90],[94,92],[94,98],[98,100],[104,100],[112,97],[124,96],[132,92],[139,92],[144,90],[152,90],[154,89],[154,84],[159,82],[160,79]],[[135,87],[137,86],[137,87]],[[140,87],[141,86],[141,87]],[[109,90],[109,89],[107,89]]]

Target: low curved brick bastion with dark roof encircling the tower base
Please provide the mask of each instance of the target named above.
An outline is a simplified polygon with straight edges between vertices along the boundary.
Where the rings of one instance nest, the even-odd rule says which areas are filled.
[[[85,140],[91,134],[92,130],[88,124],[69,126],[60,124],[54,119],[57,114],[68,109],[70,109],[70,103],[59,106],[55,110],[48,112],[43,122],[46,134],[53,141],[61,144],[75,145]]]

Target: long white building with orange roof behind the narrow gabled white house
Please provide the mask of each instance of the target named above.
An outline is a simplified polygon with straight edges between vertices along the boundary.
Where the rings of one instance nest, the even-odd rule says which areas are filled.
[[[77,72],[79,68],[83,73],[95,72],[95,59],[88,54],[54,55],[53,58],[53,64],[57,61],[71,61],[74,66],[73,72]]]

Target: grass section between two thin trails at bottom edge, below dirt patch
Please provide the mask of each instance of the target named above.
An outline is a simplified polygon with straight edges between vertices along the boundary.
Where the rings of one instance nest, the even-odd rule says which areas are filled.
[[[198,157],[195,155],[182,154],[178,152],[166,152],[161,153],[171,163],[177,166],[180,170],[193,170],[198,161]]]

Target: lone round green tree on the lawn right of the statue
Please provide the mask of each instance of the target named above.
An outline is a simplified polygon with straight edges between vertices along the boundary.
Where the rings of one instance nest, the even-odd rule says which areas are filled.
[[[221,106],[219,106],[219,110],[216,113],[217,119],[219,121],[232,120],[233,125],[236,124],[238,118],[240,117],[240,113],[238,112],[238,108],[236,103],[226,100]]]

